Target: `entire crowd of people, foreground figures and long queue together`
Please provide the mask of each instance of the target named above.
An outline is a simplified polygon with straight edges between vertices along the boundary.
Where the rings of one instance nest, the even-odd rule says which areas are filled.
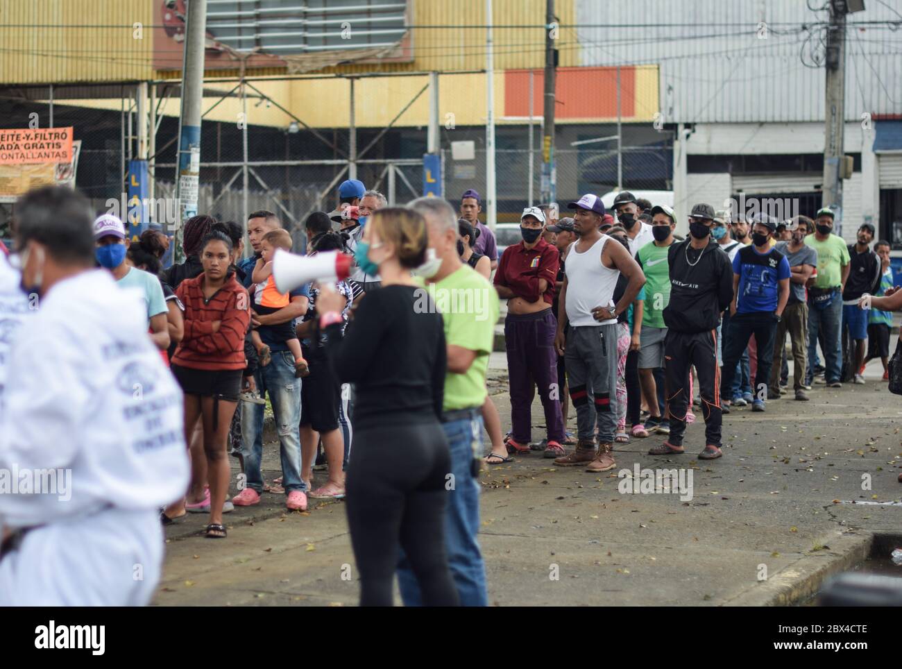
[[[278,494],[300,511],[308,498],[346,498],[362,604],[391,605],[397,575],[408,605],[484,606],[482,466],[535,451],[606,472],[616,444],[652,434],[666,438],[649,454],[681,454],[694,407],[705,423],[698,457],[720,458],[724,413],[807,400],[813,383],[864,383],[875,358],[888,366],[890,311],[902,307],[889,244],[871,250],[864,224],[847,245],[830,209],[778,221],[697,204],[684,239],[669,206],[622,192],[611,214],[585,194],[563,218],[556,205],[524,208],[522,241],[499,256],[472,188],[457,210],[431,197],[387,206],[355,179],[336,196],[333,211],[307,216],[298,251],[344,252],[352,270],[289,290],[273,259],[292,237],[271,211],[244,224],[190,218],[185,260],[164,269],[172,240],[159,230],[130,242],[121,220],[91,215],[65,188],[20,200],[14,253],[0,262],[13,315],[0,341],[0,466],[71,467],[78,504],[0,499],[0,593],[145,603],[160,524],[206,514],[204,535],[223,539],[224,514]],[[486,390],[502,300],[506,435]],[[36,353],[41,341],[60,353]],[[544,438],[534,442],[537,391]],[[267,401],[281,456],[272,481],[262,473]],[[326,476],[318,486],[315,471]],[[95,575],[72,591],[36,573],[72,573],[65,555],[34,559],[60,541],[114,572],[149,551],[152,573],[142,585],[115,572],[118,598]],[[44,579],[40,597],[25,579]]]

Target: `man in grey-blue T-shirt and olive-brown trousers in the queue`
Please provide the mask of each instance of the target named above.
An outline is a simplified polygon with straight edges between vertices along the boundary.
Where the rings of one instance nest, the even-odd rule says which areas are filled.
[[[792,239],[788,242],[779,242],[774,247],[778,252],[787,257],[789,271],[789,298],[787,307],[783,310],[783,317],[777,324],[777,337],[774,341],[774,362],[770,368],[770,383],[768,399],[778,399],[778,382],[785,357],[786,335],[789,333],[789,342],[792,344],[792,357],[796,362],[795,375],[793,377],[793,389],[796,399],[805,401],[808,399],[803,384],[805,383],[806,349],[808,347],[808,302],[805,294],[805,283],[811,278],[817,266],[817,253],[805,244],[808,224],[811,219],[806,216],[796,216],[793,219],[795,230],[791,230]]]

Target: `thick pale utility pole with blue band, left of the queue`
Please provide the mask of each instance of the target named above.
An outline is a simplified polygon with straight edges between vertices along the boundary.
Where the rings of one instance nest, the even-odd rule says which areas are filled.
[[[200,177],[200,123],[204,99],[204,50],[207,35],[207,0],[188,0],[185,24],[185,51],[181,70],[181,115],[179,116],[179,170],[175,197],[179,205],[175,252],[172,260],[181,262],[185,252],[181,231],[185,221],[198,214]],[[242,119],[244,124],[247,118]]]

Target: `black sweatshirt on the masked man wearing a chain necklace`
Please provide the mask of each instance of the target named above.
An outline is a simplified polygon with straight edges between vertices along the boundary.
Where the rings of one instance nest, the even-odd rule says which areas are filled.
[[[674,332],[695,334],[717,328],[721,312],[732,302],[732,264],[711,239],[701,251],[691,241],[673,243],[667,252],[670,301],[664,323]]]

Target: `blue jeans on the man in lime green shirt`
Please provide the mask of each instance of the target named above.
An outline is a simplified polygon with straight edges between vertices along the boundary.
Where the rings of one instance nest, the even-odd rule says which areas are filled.
[[[485,564],[476,534],[479,532],[479,479],[471,467],[474,457],[483,453],[483,417],[442,424],[451,451],[454,488],[449,490],[445,507],[445,548],[448,566],[460,596],[461,606],[487,606]],[[400,550],[398,586],[405,606],[421,606],[419,583],[410,563]]]

